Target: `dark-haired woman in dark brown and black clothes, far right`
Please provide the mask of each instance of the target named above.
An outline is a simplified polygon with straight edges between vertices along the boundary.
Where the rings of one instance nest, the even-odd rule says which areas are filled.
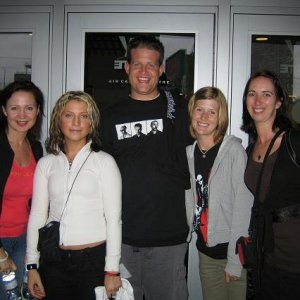
[[[249,78],[241,128],[253,140],[245,182],[255,195],[252,283],[261,300],[300,299],[300,132],[292,129],[288,102],[275,73]]]

